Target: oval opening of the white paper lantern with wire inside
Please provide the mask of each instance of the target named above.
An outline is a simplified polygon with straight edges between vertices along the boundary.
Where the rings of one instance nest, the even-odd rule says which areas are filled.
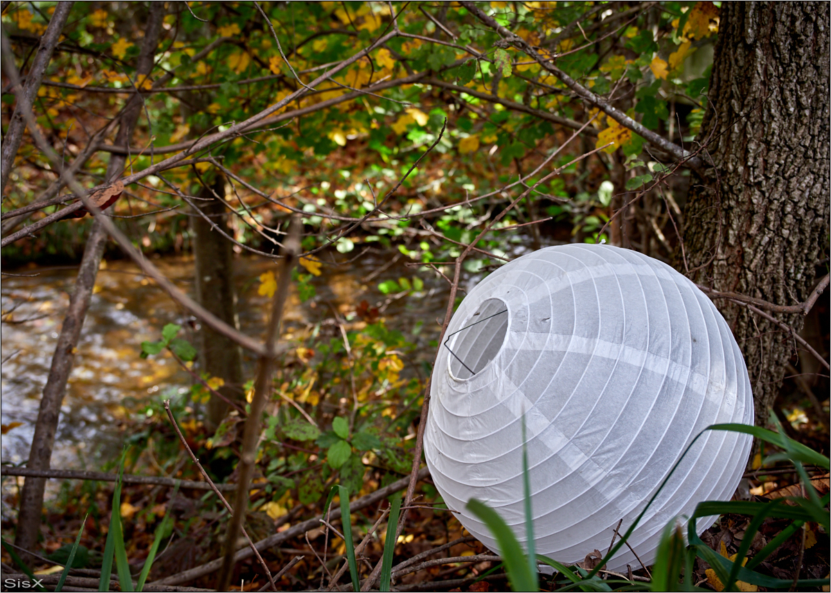
[[[470,379],[496,358],[508,333],[508,306],[496,298],[482,302],[459,331],[450,334],[450,375]],[[452,343],[451,343],[452,339]]]

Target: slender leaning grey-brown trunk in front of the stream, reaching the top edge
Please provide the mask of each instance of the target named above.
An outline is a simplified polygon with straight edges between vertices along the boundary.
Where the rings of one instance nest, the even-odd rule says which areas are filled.
[[[163,2],[151,2],[147,19],[145,39],[137,65],[137,75],[147,75],[153,69],[153,56],[159,40],[162,21],[165,17]],[[116,145],[129,145],[132,140],[135,123],[141,114],[143,99],[134,95],[125,106],[121,125],[116,135]],[[125,156],[112,154],[107,164],[106,180],[117,179],[124,170]],[[64,223],[66,224],[66,223]],[[96,274],[104,254],[107,233],[98,221],[92,223],[90,236],[86,241],[81,268],[72,293],[69,309],[61,326],[55,354],[52,355],[52,368],[49,371],[47,385],[43,388],[40,409],[37,413],[35,431],[32,436],[32,448],[29,451],[27,468],[49,469],[52,461],[52,448],[55,444],[58,419],[61,415],[61,403],[66,394],[66,380],[72,372],[75,350],[84,326],[86,311],[90,306],[92,289],[95,287]],[[43,509],[43,490],[45,478],[26,478],[20,495],[20,512],[17,516],[17,533],[15,543],[25,550],[32,551],[37,544]]]

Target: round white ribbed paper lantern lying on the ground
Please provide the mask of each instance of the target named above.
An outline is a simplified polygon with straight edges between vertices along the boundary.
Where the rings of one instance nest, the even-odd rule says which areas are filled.
[[[463,329],[465,328],[465,329]],[[448,507],[494,551],[465,509],[493,507],[525,541],[522,416],[538,554],[606,553],[710,424],[753,424],[745,361],[692,282],[627,249],[548,247],[500,267],[455,312],[433,370],[425,458]],[[629,544],[649,566],[661,529],[698,502],[728,500],[750,437],[708,431]],[[699,520],[703,532],[710,522]],[[612,570],[640,566],[623,546]]]

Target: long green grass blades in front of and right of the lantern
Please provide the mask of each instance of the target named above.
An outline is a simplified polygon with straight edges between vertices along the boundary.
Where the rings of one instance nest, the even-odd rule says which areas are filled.
[[[820,468],[829,469],[829,458],[805,447],[803,444],[797,443],[793,439],[789,439],[781,430],[777,433],[772,430],[747,426],[745,424],[713,424],[701,431],[696,436],[696,439],[693,439],[692,443],[684,451],[684,454],[681,455],[681,458],[673,466],[672,471],[665,478],[664,482],[661,483],[661,487],[658,488],[655,495],[647,502],[647,507],[638,515],[632,527],[629,527],[627,532],[620,538],[620,541],[612,547],[602,559],[601,563],[595,566],[592,571],[586,571],[578,566],[564,566],[551,558],[536,556],[537,561],[548,566],[553,566],[558,571],[559,576],[563,577],[563,579],[558,581],[558,591],[569,591],[571,589],[579,589],[581,591],[612,591],[612,584],[621,585],[617,591],[632,591],[642,588],[641,585],[632,583],[631,581],[602,581],[597,576],[597,572],[602,569],[602,566],[614,556],[621,546],[626,544],[627,538],[632,535],[635,527],[637,527],[637,523],[640,522],[647,508],[650,507],[658,493],[666,485],[667,480],[675,472],[676,467],[681,463],[681,459],[684,458],[684,455],[686,455],[692,445],[696,443],[696,440],[708,430],[726,430],[750,434],[757,439],[780,448],[781,453],[774,453],[774,455],[765,459],[765,462],[772,463],[780,460],[788,460],[790,463],[793,463],[807,497],[783,497],[771,502],[706,501],[699,503],[696,506],[695,512],[687,520],[686,542],[681,526],[676,524],[675,520],[668,523],[664,528],[656,551],[656,563],[654,571],[652,572],[652,582],[650,583],[652,591],[694,591],[696,587],[691,581],[691,576],[696,557],[706,561],[713,568],[715,575],[718,576],[719,581],[724,585],[724,591],[734,591],[739,586],[739,582],[755,586],[764,586],[768,589],[789,589],[795,587],[799,590],[805,587],[829,586],[829,579],[827,578],[799,579],[794,581],[791,579],[777,579],[754,570],[756,566],[759,566],[761,562],[765,561],[788,537],[793,535],[806,522],[817,522],[825,528],[826,534],[831,532],[831,529],[829,529],[829,512],[825,509],[829,504],[829,494],[826,494],[824,497],[819,496],[819,493],[810,481],[808,473],[803,467],[803,463],[810,463]],[[531,543],[533,527],[530,514],[531,502],[528,488],[528,462],[525,457],[526,453],[523,445],[525,522],[529,534],[528,555],[522,551],[514,533],[494,509],[485,505],[484,502],[475,499],[471,499],[468,502],[467,508],[485,523],[499,543],[505,570],[508,572],[509,581],[514,591],[538,591],[536,566],[535,563],[529,563],[529,558],[534,557],[534,551],[533,543]],[[713,551],[710,546],[702,542],[696,531],[696,519],[725,513],[751,517],[750,523],[745,529],[745,535],[735,555],[735,560],[732,561]],[[746,559],[745,556],[750,550],[750,544],[753,542],[755,534],[759,532],[762,523],[769,517],[789,519],[791,523],[762,548],[762,550],[756,552],[755,556]],[[743,566],[745,562],[746,564]]]

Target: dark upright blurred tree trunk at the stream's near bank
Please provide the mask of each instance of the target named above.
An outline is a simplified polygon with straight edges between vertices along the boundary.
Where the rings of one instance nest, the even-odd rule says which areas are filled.
[[[211,191],[213,189],[213,192]],[[221,175],[199,193],[196,205],[214,224],[233,236],[229,229],[228,208],[214,197],[214,193],[225,197],[225,184]],[[191,219],[194,230],[194,255],[196,277],[196,300],[219,319],[238,327],[234,291],[234,246],[215,230],[199,213]],[[219,393],[228,399],[243,398],[242,354],[234,341],[220,335],[208,326],[200,330],[202,370],[224,380]],[[228,412],[228,404],[211,395],[206,414],[208,429],[215,430]]]

